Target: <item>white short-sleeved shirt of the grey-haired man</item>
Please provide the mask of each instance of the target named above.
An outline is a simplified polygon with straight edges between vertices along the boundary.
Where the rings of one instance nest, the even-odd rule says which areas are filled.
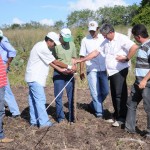
[[[109,76],[112,76],[124,68],[129,67],[129,62],[120,62],[116,60],[117,55],[127,56],[130,48],[135,43],[127,36],[115,32],[114,39],[105,41],[101,44],[99,52],[106,55],[106,69]]]

